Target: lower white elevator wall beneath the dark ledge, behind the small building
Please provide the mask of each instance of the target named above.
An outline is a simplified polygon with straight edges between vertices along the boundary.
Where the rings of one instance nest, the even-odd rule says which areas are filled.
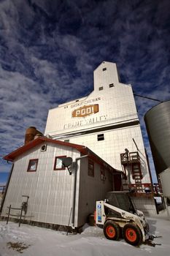
[[[101,133],[104,134],[104,140],[98,141],[97,135]],[[118,138],[120,138],[120,140]],[[125,152],[125,148],[128,148],[130,152],[137,151],[133,138],[139,148],[139,156],[141,157],[142,174],[144,176],[142,182],[147,183],[150,181],[150,176],[139,126],[96,132],[90,135],[81,135],[69,138],[69,142],[88,146],[88,148],[98,154],[98,156],[109,163],[109,165],[115,167],[117,170],[122,170],[120,154]],[[134,182],[132,178],[131,182]]]

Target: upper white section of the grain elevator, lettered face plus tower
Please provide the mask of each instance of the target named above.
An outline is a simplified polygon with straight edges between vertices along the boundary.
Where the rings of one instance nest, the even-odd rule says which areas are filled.
[[[102,71],[103,65],[107,67],[106,72]],[[110,83],[114,83],[112,88],[109,88]],[[99,91],[99,86],[104,89]],[[93,105],[98,105],[97,112],[89,112]],[[83,115],[80,115],[80,108]],[[79,115],[74,115],[77,110]],[[116,65],[105,62],[94,71],[94,91],[88,97],[66,102],[49,111],[45,134],[57,136],[66,132],[85,132],[101,125],[136,120],[138,116],[131,85],[119,83]]]

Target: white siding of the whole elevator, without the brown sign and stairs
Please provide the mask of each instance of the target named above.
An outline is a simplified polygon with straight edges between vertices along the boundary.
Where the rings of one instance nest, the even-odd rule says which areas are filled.
[[[103,68],[107,70],[103,71]],[[109,84],[114,87],[109,88]],[[99,91],[99,87],[103,90]],[[72,117],[72,111],[84,105],[98,104],[98,113],[85,117]],[[147,159],[139,124],[131,127],[109,129],[115,125],[125,125],[128,122],[139,121],[134,102],[131,85],[120,83],[117,68],[114,63],[104,61],[94,71],[94,91],[79,99],[77,102],[67,102],[49,111],[45,135],[50,134],[55,139],[69,139],[72,143],[88,146],[99,157],[103,158],[112,167],[122,170],[120,153],[137,151],[133,138],[139,148],[142,159],[142,183],[150,183]],[[107,128],[107,130],[106,130]],[[90,129],[99,129],[98,132],[85,133]],[[74,133],[77,132],[77,135]],[[84,133],[83,133],[84,132]],[[104,140],[97,141],[97,135],[104,133]],[[134,183],[134,180],[131,179]]]

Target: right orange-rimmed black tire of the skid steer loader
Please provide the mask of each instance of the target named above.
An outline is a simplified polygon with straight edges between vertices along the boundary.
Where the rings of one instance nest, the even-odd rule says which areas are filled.
[[[123,238],[128,244],[139,246],[142,244],[142,232],[135,224],[126,224],[123,227]]]

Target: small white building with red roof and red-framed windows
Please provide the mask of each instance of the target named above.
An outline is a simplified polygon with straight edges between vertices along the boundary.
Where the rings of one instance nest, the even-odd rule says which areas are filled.
[[[72,174],[63,167],[62,159],[72,157]],[[39,137],[4,157],[13,167],[1,217],[7,217],[9,205],[20,208],[28,196],[25,219],[31,222],[82,226],[88,214],[95,211],[96,200],[108,191],[120,189],[114,177],[120,172],[104,162],[85,146]],[[20,216],[20,210],[11,210]]]

